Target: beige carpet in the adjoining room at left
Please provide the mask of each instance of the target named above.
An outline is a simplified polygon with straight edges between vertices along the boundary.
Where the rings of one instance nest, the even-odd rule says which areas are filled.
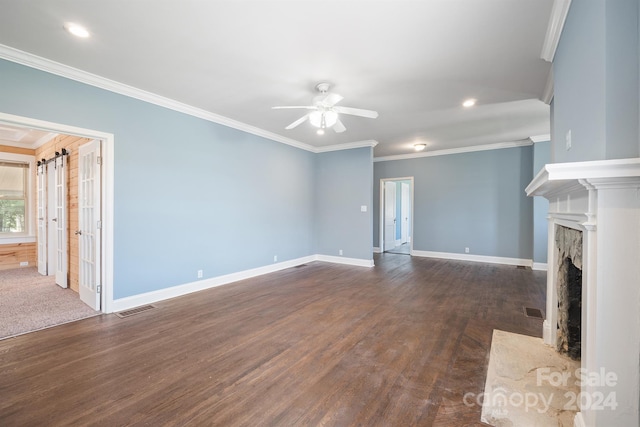
[[[98,314],[35,267],[0,271],[0,339]]]

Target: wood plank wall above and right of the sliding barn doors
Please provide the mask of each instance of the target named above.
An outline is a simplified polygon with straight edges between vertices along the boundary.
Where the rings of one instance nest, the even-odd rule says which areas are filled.
[[[68,272],[69,287],[78,292],[78,147],[89,142],[90,139],[79,136],[58,135],[48,143],[35,150],[36,159],[50,159],[56,151],[65,148],[71,154],[65,157],[67,169],[67,230],[68,230]],[[35,180],[35,179],[34,179]]]

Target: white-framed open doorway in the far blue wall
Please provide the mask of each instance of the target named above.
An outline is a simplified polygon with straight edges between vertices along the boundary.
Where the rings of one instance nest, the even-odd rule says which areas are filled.
[[[381,252],[413,251],[413,177],[380,180]]]

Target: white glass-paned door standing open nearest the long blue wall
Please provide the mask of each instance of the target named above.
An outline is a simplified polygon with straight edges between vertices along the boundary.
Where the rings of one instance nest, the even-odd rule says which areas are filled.
[[[100,141],[78,150],[78,288],[80,299],[100,310]]]

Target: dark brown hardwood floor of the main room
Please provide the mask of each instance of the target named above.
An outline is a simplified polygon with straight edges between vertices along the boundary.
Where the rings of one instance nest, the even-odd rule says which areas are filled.
[[[545,274],[321,262],[0,341],[0,425],[482,425],[493,329],[540,336]]]

